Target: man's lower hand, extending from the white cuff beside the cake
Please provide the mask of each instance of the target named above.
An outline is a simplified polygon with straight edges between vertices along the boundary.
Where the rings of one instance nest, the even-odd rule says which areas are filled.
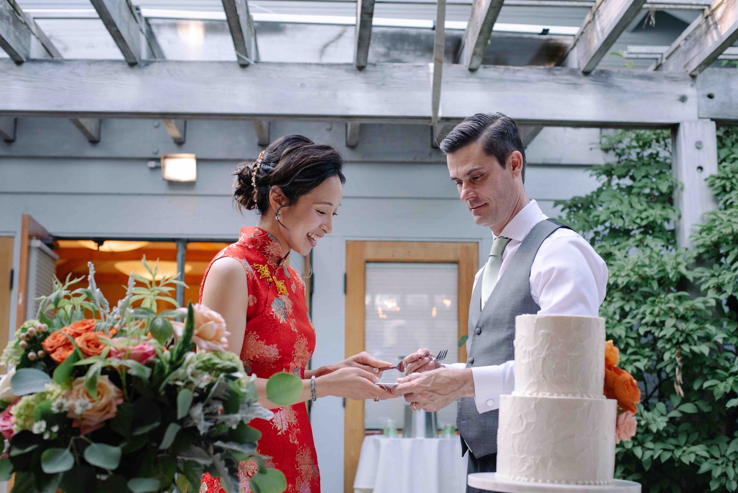
[[[400,385],[392,393],[404,395],[413,410],[437,411],[460,397],[474,396],[474,378],[468,368],[413,373],[397,382]]]

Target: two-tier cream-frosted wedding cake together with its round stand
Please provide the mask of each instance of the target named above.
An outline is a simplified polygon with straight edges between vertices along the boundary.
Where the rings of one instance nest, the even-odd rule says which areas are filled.
[[[469,485],[640,492],[638,483],[613,479],[617,403],[602,391],[604,319],[520,315],[515,322],[515,390],[500,396],[497,473],[471,475]]]

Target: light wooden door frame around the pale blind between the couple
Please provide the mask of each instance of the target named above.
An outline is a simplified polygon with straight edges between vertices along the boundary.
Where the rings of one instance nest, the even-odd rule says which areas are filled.
[[[469,301],[479,264],[477,242],[347,241],[345,357],[364,351],[367,262],[427,262],[458,264],[458,337],[468,335]],[[466,345],[458,348],[466,361]],[[364,401],[345,400],[343,435],[344,493],[354,492],[356,466],[364,441]]]

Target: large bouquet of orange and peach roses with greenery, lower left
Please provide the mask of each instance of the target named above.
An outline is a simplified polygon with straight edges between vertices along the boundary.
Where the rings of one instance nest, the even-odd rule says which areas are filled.
[[[5,348],[0,382],[0,480],[15,475],[13,492],[199,492],[204,472],[237,492],[238,461],[254,459],[255,493],[280,493],[284,475],[266,469],[256,451],[261,433],[247,424],[271,419],[257,402],[238,356],[225,351],[223,318],[169,294],[181,283],[128,279],[111,308],[94,281],[54,281]],[[139,306],[134,308],[134,303]],[[175,309],[156,312],[159,303]],[[184,321],[177,318],[184,317]],[[197,348],[197,351],[195,349]],[[269,399],[291,404],[294,382],[279,375]],[[284,390],[284,385],[287,390]],[[272,385],[272,383],[274,385]]]

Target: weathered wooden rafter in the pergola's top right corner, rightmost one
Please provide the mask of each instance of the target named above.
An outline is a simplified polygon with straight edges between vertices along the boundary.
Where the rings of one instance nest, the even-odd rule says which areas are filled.
[[[650,69],[697,75],[738,41],[738,0],[714,0]]]

